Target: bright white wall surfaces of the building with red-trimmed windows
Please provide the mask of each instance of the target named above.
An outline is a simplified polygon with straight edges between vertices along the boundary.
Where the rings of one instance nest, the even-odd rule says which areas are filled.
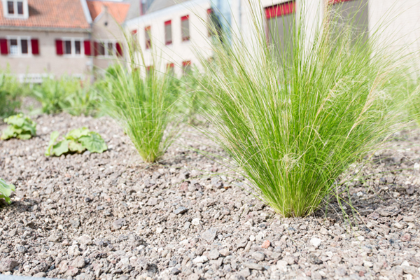
[[[288,0],[253,0],[260,1],[262,7],[273,6],[285,3]],[[305,9],[307,17],[305,25],[308,28],[308,43],[313,42],[314,31],[321,25],[325,3],[328,0],[297,0],[296,8]],[[258,2],[254,2],[258,3]],[[155,13],[135,18],[126,23],[127,29],[138,30],[141,47],[145,47],[144,28],[151,26],[153,51],[161,58],[160,69],[165,71],[167,63],[176,65],[175,72],[181,73],[183,61],[191,61],[193,65],[199,66],[200,59],[197,52],[204,57],[211,57],[211,46],[207,36],[206,22],[208,20],[207,9],[210,8],[210,0],[193,0],[180,3],[176,6],[159,10]],[[252,14],[248,0],[231,0],[232,6],[232,31],[241,36],[244,43],[251,45],[255,41],[253,36]],[[298,13],[298,12],[297,12]],[[190,37],[189,42],[181,41],[181,17],[190,15]],[[369,0],[369,29],[370,33],[379,27],[386,26],[380,31],[379,39],[383,45],[391,45],[400,48],[402,45],[409,45],[409,51],[420,50],[420,1],[419,0]],[[262,15],[262,17],[264,17]],[[164,22],[172,20],[172,45],[165,45]],[[265,24],[265,18],[262,18]],[[145,50],[146,66],[152,65],[152,50]],[[178,67],[177,67],[178,66]]]

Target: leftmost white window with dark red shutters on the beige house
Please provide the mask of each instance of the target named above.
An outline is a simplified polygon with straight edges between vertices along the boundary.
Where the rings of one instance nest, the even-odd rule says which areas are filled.
[[[0,38],[0,52],[13,57],[39,55],[38,39],[26,36]]]

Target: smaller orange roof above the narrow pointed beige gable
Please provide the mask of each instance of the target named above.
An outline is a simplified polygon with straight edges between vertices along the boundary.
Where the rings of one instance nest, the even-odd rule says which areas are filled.
[[[130,10],[130,3],[88,0],[87,7],[89,7],[92,20],[97,18],[97,16],[100,15],[104,10],[104,7],[106,7],[108,9],[108,13],[113,16],[116,22],[121,24],[125,22],[128,10]]]

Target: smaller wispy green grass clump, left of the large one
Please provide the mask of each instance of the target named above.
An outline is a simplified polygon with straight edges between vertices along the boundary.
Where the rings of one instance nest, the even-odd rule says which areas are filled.
[[[127,64],[123,62],[106,71],[103,95],[106,112],[120,121],[141,158],[155,162],[177,135],[173,117],[178,98],[177,80],[159,72],[156,61],[146,69],[139,45],[128,36],[127,42],[129,66],[123,66]]]

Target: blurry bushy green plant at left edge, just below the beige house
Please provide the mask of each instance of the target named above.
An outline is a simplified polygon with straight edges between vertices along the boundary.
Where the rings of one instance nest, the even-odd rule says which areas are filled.
[[[0,73],[0,118],[15,114],[20,107],[20,94],[22,86],[10,71]]]

